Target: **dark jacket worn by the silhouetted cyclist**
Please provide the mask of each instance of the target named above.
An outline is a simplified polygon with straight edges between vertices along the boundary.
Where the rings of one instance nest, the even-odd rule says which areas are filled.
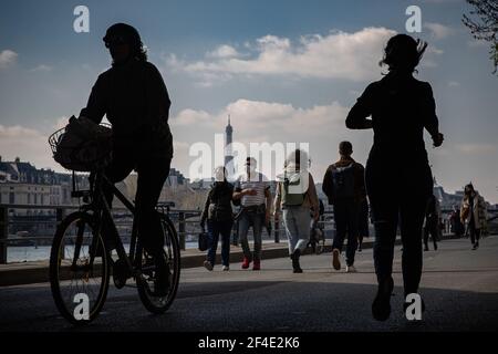
[[[106,115],[113,127],[114,148],[136,152],[137,156],[172,158],[170,104],[157,67],[131,59],[98,76],[80,115],[96,124]]]

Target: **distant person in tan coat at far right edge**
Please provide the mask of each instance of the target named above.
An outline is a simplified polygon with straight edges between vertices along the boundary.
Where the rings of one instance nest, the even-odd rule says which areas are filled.
[[[473,184],[465,186],[464,199],[461,201],[460,219],[466,225],[470,235],[473,250],[479,248],[481,230],[486,227],[486,202]]]

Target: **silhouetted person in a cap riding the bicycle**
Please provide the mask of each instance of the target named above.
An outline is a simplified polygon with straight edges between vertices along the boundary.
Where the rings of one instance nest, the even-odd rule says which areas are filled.
[[[167,292],[168,279],[155,207],[173,158],[169,95],[159,71],[147,62],[136,29],[116,23],[107,29],[103,40],[113,59],[112,67],[98,76],[80,115],[97,124],[106,115],[112,124],[113,160],[105,170],[107,178],[117,183],[133,169],[138,174],[135,196],[138,237],[156,260],[158,295],[162,295]],[[112,192],[105,190],[105,195],[111,205]],[[105,222],[103,235],[112,249],[117,231]]]

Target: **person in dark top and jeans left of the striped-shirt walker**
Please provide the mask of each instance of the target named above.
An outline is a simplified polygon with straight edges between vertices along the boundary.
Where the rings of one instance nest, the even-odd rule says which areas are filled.
[[[230,235],[234,226],[234,212],[231,200],[234,186],[227,181],[227,169],[218,167],[215,170],[215,184],[206,198],[203,215],[200,216],[200,228],[206,229],[206,220],[209,235],[209,249],[204,267],[212,271],[216,263],[216,250],[221,235],[221,263],[222,270],[230,270]]]

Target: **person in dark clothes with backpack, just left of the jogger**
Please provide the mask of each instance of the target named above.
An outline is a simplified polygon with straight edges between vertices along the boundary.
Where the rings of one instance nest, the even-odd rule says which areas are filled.
[[[341,270],[340,254],[347,233],[346,272],[354,273],[354,256],[357,247],[360,207],[366,198],[364,167],[351,155],[350,142],[339,144],[340,159],[329,166],[323,177],[322,190],[334,207],[335,235],[332,244],[332,266]]]

